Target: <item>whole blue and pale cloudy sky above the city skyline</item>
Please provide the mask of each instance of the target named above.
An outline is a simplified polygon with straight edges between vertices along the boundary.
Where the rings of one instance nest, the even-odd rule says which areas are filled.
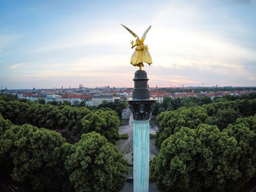
[[[0,88],[133,87],[121,23],[151,88],[256,86],[256,1],[0,0]]]

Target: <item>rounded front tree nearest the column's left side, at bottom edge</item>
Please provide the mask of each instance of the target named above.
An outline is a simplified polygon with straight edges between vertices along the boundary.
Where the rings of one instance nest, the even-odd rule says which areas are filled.
[[[95,131],[83,134],[65,168],[75,191],[120,191],[128,173],[127,161],[116,146]]]

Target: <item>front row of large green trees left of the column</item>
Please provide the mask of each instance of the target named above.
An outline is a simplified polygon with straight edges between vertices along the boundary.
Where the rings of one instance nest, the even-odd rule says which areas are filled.
[[[0,168],[35,191],[120,191],[127,161],[91,131],[69,144],[56,131],[12,124],[0,115]]]

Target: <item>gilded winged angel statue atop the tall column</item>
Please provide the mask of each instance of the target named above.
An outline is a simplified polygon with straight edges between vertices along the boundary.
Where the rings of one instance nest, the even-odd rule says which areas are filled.
[[[131,58],[131,64],[133,66],[139,66],[140,70],[142,69],[143,63],[147,63],[148,65],[152,64],[152,59],[151,59],[151,55],[148,52],[148,46],[144,45],[143,42],[146,38],[146,34],[148,33],[149,29],[151,28],[151,26],[149,26],[147,28],[147,30],[144,32],[143,36],[141,37],[141,39],[138,37],[137,34],[135,34],[133,31],[129,30],[129,28],[127,28],[126,26],[122,25],[124,28],[127,29],[127,31],[129,31],[134,37],[136,37],[136,42],[135,45],[134,42],[132,41],[132,48],[136,46],[135,48],[135,53],[132,54],[132,58]]]

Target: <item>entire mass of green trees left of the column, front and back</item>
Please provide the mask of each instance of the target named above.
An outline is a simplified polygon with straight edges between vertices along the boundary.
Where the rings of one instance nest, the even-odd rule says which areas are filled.
[[[112,144],[119,123],[106,108],[0,96],[0,169],[35,191],[120,191],[128,169]]]

